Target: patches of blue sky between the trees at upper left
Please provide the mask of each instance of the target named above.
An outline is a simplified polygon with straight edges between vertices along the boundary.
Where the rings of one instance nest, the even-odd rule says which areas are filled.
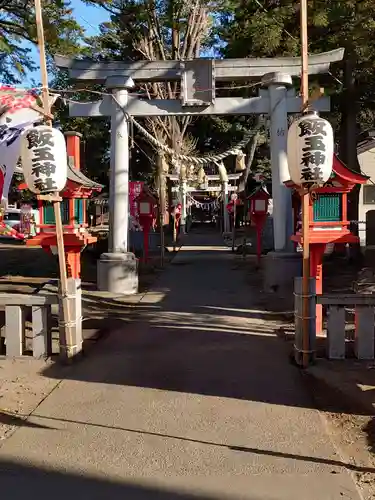
[[[83,26],[83,28],[86,30],[87,36],[97,35],[99,33],[97,28],[98,25],[109,19],[108,12],[106,12],[104,9],[100,7],[92,7],[92,6],[89,7],[85,5],[81,0],[73,0],[72,5],[74,6],[73,10],[77,22],[81,26]],[[31,55],[35,60],[37,67],[39,68],[38,49],[34,46],[32,46],[31,49],[32,49]],[[39,69],[37,69],[35,72],[28,73],[25,76],[23,81],[23,86],[32,87],[33,79],[36,81],[40,80]]]

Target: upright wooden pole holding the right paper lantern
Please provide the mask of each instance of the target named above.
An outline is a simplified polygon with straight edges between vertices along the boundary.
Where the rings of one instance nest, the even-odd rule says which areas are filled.
[[[307,41],[307,0],[300,0],[301,8],[301,96],[302,111],[306,111],[309,99],[309,68],[308,68],[308,41]],[[302,244],[303,244],[303,353],[302,366],[306,368],[309,364],[309,278],[310,278],[310,242],[309,242],[309,215],[310,215],[310,195],[308,191],[302,193]]]

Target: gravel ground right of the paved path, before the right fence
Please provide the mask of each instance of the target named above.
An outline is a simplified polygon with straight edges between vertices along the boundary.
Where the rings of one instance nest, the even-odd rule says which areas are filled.
[[[375,365],[318,360],[305,374],[317,407],[366,500],[375,499]]]

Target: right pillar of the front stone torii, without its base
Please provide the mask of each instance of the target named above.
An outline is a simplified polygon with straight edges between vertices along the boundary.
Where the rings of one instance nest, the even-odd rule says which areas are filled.
[[[287,88],[292,85],[292,79],[284,73],[268,73],[262,82],[268,87],[270,100],[274,246],[275,251],[285,251],[292,248],[290,237],[293,234],[291,192],[284,185],[289,180]]]

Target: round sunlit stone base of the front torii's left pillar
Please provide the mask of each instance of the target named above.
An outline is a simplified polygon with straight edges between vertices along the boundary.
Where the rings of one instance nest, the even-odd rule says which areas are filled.
[[[133,253],[103,253],[98,260],[97,286],[119,295],[138,293],[138,265]]]

